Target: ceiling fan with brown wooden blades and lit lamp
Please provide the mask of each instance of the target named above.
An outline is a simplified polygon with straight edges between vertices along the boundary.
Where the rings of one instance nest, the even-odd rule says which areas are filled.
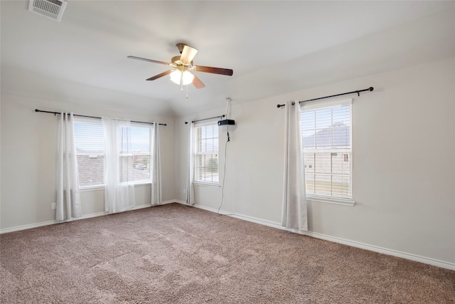
[[[164,61],[155,61],[153,59],[141,58],[136,56],[128,56],[131,59],[137,59],[141,61],[148,61],[151,63],[160,63],[164,65],[170,65],[173,69],[166,70],[166,72],[160,73],[158,75],[154,75],[151,78],[146,80],[155,80],[161,78],[165,75],[171,75],[171,80],[178,85],[188,85],[193,83],[193,85],[200,89],[204,88],[205,85],[202,81],[196,76],[191,70],[196,72],[203,72],[203,73],[213,73],[213,74],[220,74],[220,75],[228,75],[232,76],[233,71],[228,68],[212,68],[210,66],[203,66],[203,65],[193,65],[193,58],[198,53],[196,48],[192,48],[191,46],[187,46],[185,43],[177,43],[178,51],[180,51],[180,56],[174,56],[171,59],[171,63],[167,63]]]

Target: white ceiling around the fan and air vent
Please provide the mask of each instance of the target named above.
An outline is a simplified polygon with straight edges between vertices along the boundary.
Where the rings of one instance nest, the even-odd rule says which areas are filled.
[[[455,54],[454,1],[75,1],[59,23],[1,2],[1,91],[181,116]],[[205,88],[167,77],[198,49]],[[372,84],[374,85],[374,84]],[[348,88],[350,89],[350,88]],[[298,97],[297,97],[298,98]]]

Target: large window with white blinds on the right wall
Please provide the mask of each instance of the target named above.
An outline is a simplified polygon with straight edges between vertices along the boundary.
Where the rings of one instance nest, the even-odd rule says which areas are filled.
[[[306,194],[351,200],[351,100],[303,104],[301,109]]]

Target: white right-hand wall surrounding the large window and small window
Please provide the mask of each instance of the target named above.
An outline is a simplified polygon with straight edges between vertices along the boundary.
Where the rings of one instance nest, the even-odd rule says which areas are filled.
[[[360,90],[353,97],[355,206],[309,201],[309,231],[455,267],[454,58],[272,98],[235,103],[222,211],[279,224],[284,113],[277,104]],[[176,199],[185,200],[185,120],[176,120]],[[224,140],[220,140],[223,176]],[[196,187],[196,203],[218,209],[223,189]]]

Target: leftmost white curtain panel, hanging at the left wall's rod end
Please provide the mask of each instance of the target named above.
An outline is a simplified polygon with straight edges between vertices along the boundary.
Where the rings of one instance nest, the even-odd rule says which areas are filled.
[[[55,219],[63,221],[82,215],[74,142],[73,113],[60,113]]]

